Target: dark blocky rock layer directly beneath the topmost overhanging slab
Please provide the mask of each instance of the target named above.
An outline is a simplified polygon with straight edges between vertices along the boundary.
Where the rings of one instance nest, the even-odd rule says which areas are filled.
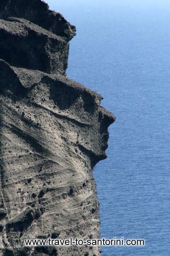
[[[69,44],[21,18],[0,20],[0,58],[13,66],[65,75]]]

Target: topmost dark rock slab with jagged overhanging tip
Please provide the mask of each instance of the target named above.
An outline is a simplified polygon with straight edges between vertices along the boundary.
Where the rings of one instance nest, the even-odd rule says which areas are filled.
[[[64,17],[41,0],[1,0],[0,18],[24,18],[52,33],[70,40],[75,36],[75,26],[70,25]]]

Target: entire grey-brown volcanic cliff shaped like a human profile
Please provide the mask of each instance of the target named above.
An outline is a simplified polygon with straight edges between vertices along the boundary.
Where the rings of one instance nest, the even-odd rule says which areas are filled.
[[[100,237],[92,170],[115,117],[65,77],[74,26],[40,0],[0,7],[0,255],[98,256],[100,247],[24,239]]]

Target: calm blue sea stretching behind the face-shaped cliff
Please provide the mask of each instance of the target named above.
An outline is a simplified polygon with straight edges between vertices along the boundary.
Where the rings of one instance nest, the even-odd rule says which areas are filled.
[[[47,1],[76,25],[68,77],[102,94],[117,116],[108,158],[94,176],[101,237],[144,247],[103,247],[103,256],[170,255],[170,4]]]

